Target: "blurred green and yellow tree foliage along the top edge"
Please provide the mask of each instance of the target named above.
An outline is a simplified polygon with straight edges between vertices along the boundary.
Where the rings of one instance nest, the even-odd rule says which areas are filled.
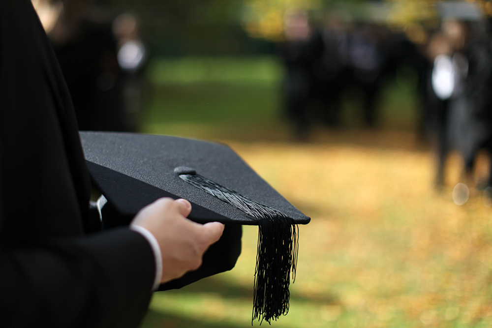
[[[345,12],[352,21],[377,21],[406,30],[425,42],[421,22],[436,25],[435,0],[94,0],[140,18],[154,53],[167,56],[272,53],[283,38],[285,13],[301,9],[312,24],[322,25],[326,12]],[[492,12],[492,1],[477,1]]]

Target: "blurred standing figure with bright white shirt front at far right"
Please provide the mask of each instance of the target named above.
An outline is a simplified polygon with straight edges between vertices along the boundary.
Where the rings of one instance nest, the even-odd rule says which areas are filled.
[[[452,149],[459,151],[464,168],[461,180],[484,189],[488,181],[475,181],[473,169],[480,149],[492,150],[492,35],[488,20],[443,20],[429,45],[433,58],[430,103],[431,133],[437,135],[436,185],[444,185],[444,165]],[[430,106],[432,108],[432,106]],[[433,119],[433,120],[432,120]],[[491,170],[492,172],[492,167]]]

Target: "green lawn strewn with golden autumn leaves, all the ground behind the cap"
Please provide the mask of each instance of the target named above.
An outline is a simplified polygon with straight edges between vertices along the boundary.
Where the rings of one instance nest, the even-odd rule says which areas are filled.
[[[213,70],[220,60],[205,62]],[[261,66],[254,62],[250,68]],[[491,209],[474,190],[463,206],[453,203],[458,156],[451,156],[446,187],[437,192],[431,153],[408,129],[318,127],[309,143],[296,143],[277,115],[281,76],[266,83],[249,72],[247,83],[217,77],[184,83],[159,74],[145,132],[229,144],[312,217],[300,226],[289,314],[272,326],[492,326]],[[412,99],[416,104],[404,86],[394,84],[382,97],[395,118],[402,115],[389,104],[410,114]],[[233,270],[155,293],[142,327],[250,327],[256,240],[257,228],[244,227],[243,252]]]

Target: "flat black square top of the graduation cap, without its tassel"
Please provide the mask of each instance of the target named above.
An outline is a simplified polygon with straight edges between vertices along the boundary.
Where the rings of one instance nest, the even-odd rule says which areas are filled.
[[[261,179],[228,146],[178,137],[112,132],[80,132],[91,177],[123,214],[134,215],[160,197],[191,202],[189,218],[205,223],[255,225],[245,211],[228,204],[180,175],[199,176],[220,187],[307,224],[309,217]]]

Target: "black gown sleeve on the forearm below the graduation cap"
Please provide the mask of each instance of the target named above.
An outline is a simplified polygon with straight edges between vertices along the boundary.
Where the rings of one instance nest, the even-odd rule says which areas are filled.
[[[140,234],[116,229],[0,249],[1,327],[138,327],[154,282]]]

